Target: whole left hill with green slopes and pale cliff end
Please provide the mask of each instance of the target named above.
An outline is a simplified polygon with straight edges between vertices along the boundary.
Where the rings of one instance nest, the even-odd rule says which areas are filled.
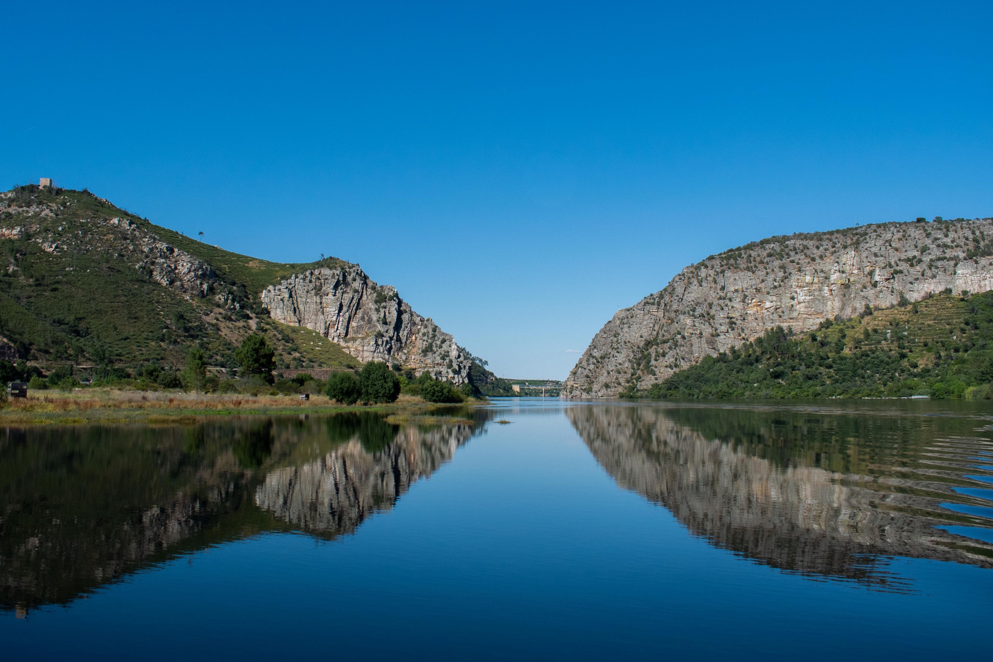
[[[0,194],[0,262],[0,334],[43,364],[179,365],[196,343],[233,366],[233,348],[254,331],[284,368],[376,359],[455,384],[492,377],[358,265],[239,255],[86,191]]]

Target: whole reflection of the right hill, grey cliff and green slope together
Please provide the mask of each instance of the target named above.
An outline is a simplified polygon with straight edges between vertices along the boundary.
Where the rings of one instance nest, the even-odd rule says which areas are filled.
[[[969,458],[993,451],[974,436],[978,417],[583,405],[566,415],[621,486],[760,563],[887,591],[909,589],[887,571],[893,556],[993,567],[993,546],[935,528],[993,525],[949,507],[993,505],[959,491],[984,477]]]

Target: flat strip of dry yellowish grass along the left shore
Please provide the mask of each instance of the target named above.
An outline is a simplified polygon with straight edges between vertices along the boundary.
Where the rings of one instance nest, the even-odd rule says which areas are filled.
[[[472,400],[465,405],[483,402]],[[309,400],[301,400],[297,395],[252,396],[87,388],[70,392],[31,391],[27,398],[12,398],[0,409],[0,424],[192,423],[205,416],[345,411],[381,411],[396,417],[418,418],[450,406],[424,402],[418,397],[403,394],[390,404],[346,406],[325,395],[311,395]]]

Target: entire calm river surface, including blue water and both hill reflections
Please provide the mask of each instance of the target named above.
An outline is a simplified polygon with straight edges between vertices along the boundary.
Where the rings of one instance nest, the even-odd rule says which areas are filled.
[[[0,650],[990,659],[991,440],[906,401],[10,428]]]

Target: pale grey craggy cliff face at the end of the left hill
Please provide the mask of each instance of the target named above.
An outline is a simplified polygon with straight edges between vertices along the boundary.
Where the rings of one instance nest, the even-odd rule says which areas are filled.
[[[274,320],[318,331],[360,361],[395,362],[456,385],[469,378],[472,358],[455,338],[358,265],[296,274],[266,288],[262,304]]]

